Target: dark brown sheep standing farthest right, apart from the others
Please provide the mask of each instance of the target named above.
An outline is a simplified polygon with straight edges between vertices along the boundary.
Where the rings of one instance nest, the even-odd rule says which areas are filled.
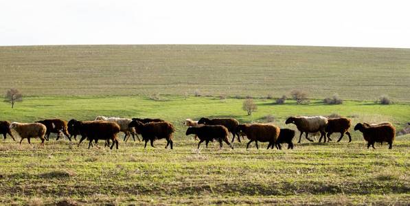
[[[354,126],[354,130],[363,133],[363,138],[367,141],[367,149],[370,146],[374,148],[374,142],[381,143],[383,141],[386,141],[389,144],[389,149],[391,149],[394,137],[396,137],[396,128],[392,124],[369,126],[368,124],[358,123]]]

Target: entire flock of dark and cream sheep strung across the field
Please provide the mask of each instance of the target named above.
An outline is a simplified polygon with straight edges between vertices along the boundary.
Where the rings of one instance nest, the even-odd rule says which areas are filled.
[[[328,119],[322,116],[315,117],[289,117],[286,119],[286,124],[295,124],[297,130],[300,131],[299,141],[301,141],[301,136],[305,133],[306,139],[313,141],[308,138],[309,133],[320,133],[323,142],[326,142],[326,137],[328,141],[332,133],[341,133],[338,141],[341,141],[343,135],[348,135],[349,142],[352,141],[350,136],[350,126],[351,120],[347,118],[334,118]],[[234,142],[235,137],[244,138],[245,136],[250,140],[247,144],[255,141],[256,148],[258,147],[258,141],[269,142],[268,149],[276,147],[281,149],[281,144],[288,144],[288,149],[293,149],[293,137],[295,137],[295,130],[288,128],[279,128],[273,124],[239,124],[238,120],[234,118],[225,119],[208,119],[201,118],[198,121],[192,121],[191,119],[186,119],[185,125],[188,126],[185,135],[195,135],[199,139],[198,148],[200,148],[201,143],[205,141],[206,146],[208,146],[209,141],[218,141],[220,147],[223,146],[223,141],[230,146]],[[118,149],[118,139],[117,134],[119,132],[124,133],[124,141],[127,141],[129,137],[135,137],[139,141],[138,135],[141,135],[142,141],[145,141],[146,148],[148,141],[150,145],[154,146],[154,141],[157,139],[166,139],[166,148],[173,148],[172,133],[175,132],[174,126],[170,122],[166,122],[163,119],[127,119],[119,117],[102,117],[98,116],[93,121],[78,121],[76,119],[71,119],[66,122],[62,119],[45,119],[42,121],[34,123],[18,123],[0,121],[0,133],[3,134],[4,139],[6,134],[10,135],[15,141],[12,135],[12,130],[15,130],[17,134],[21,137],[21,142],[23,139],[27,139],[30,144],[31,138],[40,138],[41,145],[44,145],[45,140],[49,140],[49,135],[51,133],[57,134],[57,139],[60,138],[60,134],[65,135],[69,141],[71,137],[76,139],[77,135],[81,135],[81,139],[78,143],[80,146],[84,139],[89,141],[89,148],[93,146],[93,141],[97,144],[98,140],[102,139],[105,141],[106,146],[110,145],[112,141],[111,149],[116,146]],[[367,141],[367,148],[372,146],[374,148],[375,142],[383,143],[383,141],[389,144],[389,149],[391,149],[394,138],[396,136],[396,128],[391,123],[381,123],[381,124],[367,124],[358,123],[354,126],[354,130],[359,130],[363,133],[365,141]],[[229,142],[229,133],[232,134],[232,140]],[[77,140],[77,139],[76,139]]]

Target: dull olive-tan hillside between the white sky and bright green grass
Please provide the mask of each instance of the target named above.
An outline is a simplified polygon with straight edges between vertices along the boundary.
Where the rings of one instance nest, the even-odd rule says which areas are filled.
[[[0,47],[0,91],[25,95],[184,94],[410,102],[410,49],[235,45]]]

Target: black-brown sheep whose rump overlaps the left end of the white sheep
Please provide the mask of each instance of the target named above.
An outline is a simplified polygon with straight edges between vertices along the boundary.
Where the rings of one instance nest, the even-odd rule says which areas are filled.
[[[81,142],[84,139],[89,140],[89,148],[92,146],[92,141],[95,141],[95,144],[97,143],[98,139],[104,139],[108,140],[109,144],[109,139],[113,141],[113,144],[111,145],[110,149],[112,150],[114,147],[114,144],[116,145],[116,148],[118,149],[118,139],[117,139],[117,133],[119,133],[120,128],[119,125],[115,122],[104,122],[104,121],[87,121],[87,122],[81,122],[77,121],[76,119],[73,119],[73,129],[80,131],[81,134],[81,139],[78,142],[78,146],[80,146]]]

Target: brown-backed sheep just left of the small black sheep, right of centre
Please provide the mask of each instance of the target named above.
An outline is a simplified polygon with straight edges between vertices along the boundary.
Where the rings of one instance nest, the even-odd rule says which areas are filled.
[[[258,149],[258,141],[268,141],[269,149],[270,146],[275,146],[277,137],[280,134],[280,128],[272,124],[240,124],[237,131],[245,133],[250,140],[247,144],[247,149],[252,141],[255,141],[256,148]]]

